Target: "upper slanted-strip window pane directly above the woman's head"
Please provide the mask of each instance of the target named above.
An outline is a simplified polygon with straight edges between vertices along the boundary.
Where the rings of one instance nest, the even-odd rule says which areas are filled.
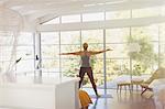
[[[103,12],[85,13],[85,14],[82,14],[82,22],[87,22],[87,21],[103,21],[103,20],[105,20]]]

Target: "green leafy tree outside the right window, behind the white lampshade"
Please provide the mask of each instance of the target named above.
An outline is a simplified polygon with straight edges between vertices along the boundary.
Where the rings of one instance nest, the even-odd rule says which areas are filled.
[[[127,37],[128,43],[139,43],[140,52],[129,53],[129,56],[133,59],[133,75],[141,75],[145,73],[147,68],[151,68],[157,61],[157,54],[154,53],[154,46],[150,41],[150,36],[136,34]]]

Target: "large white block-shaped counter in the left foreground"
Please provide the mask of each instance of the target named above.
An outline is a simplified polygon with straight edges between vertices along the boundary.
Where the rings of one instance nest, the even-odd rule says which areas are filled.
[[[14,83],[0,81],[0,108],[78,109],[79,78],[19,77]]]

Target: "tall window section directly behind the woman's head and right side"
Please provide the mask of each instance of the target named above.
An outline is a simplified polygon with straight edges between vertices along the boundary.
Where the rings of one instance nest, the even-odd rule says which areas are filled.
[[[99,39],[99,40],[98,40]],[[81,42],[88,43],[89,51],[103,50],[103,30],[81,31]],[[103,84],[103,54],[91,56],[94,77],[98,86]],[[90,86],[89,78],[85,78],[86,87]]]

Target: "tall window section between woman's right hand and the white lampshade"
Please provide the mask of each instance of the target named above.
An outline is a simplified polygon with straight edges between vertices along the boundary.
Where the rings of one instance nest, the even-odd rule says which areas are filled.
[[[130,63],[127,50],[127,37],[129,35],[129,28],[106,30],[106,47],[113,50],[107,52],[106,55],[108,88],[116,88],[118,80],[130,79]]]

